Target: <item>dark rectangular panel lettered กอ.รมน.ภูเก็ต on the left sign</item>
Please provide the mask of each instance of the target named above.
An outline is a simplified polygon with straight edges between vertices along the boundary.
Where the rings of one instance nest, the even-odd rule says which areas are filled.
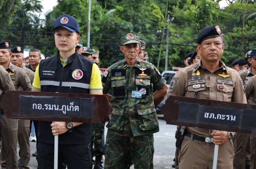
[[[93,98],[20,95],[20,115],[93,117]]]

